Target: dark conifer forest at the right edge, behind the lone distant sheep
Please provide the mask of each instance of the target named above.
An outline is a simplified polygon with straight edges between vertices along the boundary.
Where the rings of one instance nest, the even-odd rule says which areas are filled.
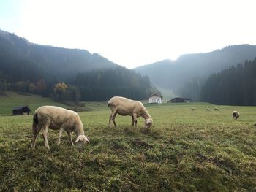
[[[213,104],[256,105],[256,58],[211,74],[200,91],[200,100]]]

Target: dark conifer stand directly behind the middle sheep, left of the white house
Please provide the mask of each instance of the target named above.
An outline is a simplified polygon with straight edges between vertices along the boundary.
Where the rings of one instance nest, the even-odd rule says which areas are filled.
[[[80,90],[83,101],[106,101],[112,96],[142,100],[152,93],[160,94],[151,85],[148,76],[121,66],[116,69],[79,73],[73,84]]]

